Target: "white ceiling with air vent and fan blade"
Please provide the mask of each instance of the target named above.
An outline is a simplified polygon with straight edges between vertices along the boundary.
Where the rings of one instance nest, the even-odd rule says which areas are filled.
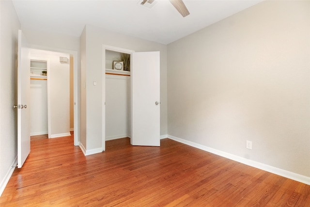
[[[169,0],[152,9],[140,0],[13,0],[24,27],[79,37],[85,24],[169,44],[262,0],[184,0],[183,17]]]

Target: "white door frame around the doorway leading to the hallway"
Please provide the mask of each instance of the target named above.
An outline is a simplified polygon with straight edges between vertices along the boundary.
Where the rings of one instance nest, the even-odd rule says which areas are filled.
[[[62,48],[50,48],[45,46],[38,46],[38,45],[30,45],[30,48],[32,49],[41,49],[41,50],[47,50],[47,51],[53,51],[53,52],[62,52],[62,53],[68,53],[70,55],[73,55],[73,96],[74,96],[74,145],[79,145],[79,97],[78,96],[78,51],[76,50],[68,50],[68,49],[62,49]]]

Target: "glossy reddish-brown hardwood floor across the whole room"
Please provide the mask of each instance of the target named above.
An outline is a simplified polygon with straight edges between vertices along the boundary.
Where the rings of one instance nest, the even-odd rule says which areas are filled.
[[[84,156],[72,137],[31,141],[1,207],[306,207],[310,186],[170,139],[161,147],[107,141]]]

